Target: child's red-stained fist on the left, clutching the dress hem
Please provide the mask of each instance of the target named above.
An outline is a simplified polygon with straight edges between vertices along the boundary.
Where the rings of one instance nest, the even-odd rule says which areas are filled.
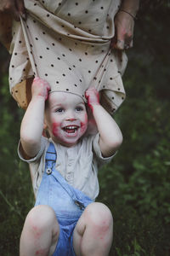
[[[31,85],[32,96],[42,96],[45,100],[48,99],[48,90],[50,90],[50,85],[46,80],[35,78]]]

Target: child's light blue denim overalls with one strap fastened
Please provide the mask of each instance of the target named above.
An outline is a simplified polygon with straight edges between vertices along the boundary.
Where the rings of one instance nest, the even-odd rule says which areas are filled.
[[[54,144],[50,143],[35,206],[52,207],[59,222],[59,240],[53,256],[76,256],[72,245],[73,230],[85,207],[93,201],[80,190],[74,189],[56,171],[56,159]]]

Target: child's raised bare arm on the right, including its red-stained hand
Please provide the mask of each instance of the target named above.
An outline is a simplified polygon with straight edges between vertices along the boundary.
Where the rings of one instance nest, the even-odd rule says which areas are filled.
[[[122,132],[111,115],[99,104],[99,92],[95,88],[89,88],[86,97],[99,130],[99,148],[104,157],[109,157],[122,144]]]

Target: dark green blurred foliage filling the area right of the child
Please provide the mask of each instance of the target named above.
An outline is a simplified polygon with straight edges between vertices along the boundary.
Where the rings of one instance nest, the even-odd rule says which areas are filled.
[[[115,116],[124,141],[99,172],[99,200],[115,220],[111,256],[170,255],[169,7],[160,3],[139,14],[124,76],[127,100]]]

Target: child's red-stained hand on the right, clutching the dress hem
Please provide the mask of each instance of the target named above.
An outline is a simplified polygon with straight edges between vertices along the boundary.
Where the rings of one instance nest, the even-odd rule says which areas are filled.
[[[94,105],[99,105],[99,91],[94,87],[88,88],[85,94],[88,100],[88,106],[93,110]]]

